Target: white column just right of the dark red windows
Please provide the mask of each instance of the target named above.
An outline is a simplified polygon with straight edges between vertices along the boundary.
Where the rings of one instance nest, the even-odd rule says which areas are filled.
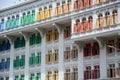
[[[106,64],[106,49],[105,46],[100,48],[100,78],[107,78],[107,64]]]

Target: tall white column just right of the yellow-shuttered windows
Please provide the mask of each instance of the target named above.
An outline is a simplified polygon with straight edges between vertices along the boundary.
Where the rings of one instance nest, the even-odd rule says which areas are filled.
[[[59,26],[59,80],[64,80],[64,70],[63,70],[63,56],[64,56],[64,39],[63,39],[63,29]]]

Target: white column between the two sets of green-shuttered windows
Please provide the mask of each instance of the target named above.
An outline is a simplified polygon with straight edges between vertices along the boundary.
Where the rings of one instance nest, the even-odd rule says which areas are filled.
[[[25,80],[29,80],[29,38],[25,40]]]

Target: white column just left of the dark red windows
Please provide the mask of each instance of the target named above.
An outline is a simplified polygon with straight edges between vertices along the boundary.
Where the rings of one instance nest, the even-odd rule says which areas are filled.
[[[83,63],[83,44],[76,43],[78,48],[78,80],[84,80],[84,63]]]

